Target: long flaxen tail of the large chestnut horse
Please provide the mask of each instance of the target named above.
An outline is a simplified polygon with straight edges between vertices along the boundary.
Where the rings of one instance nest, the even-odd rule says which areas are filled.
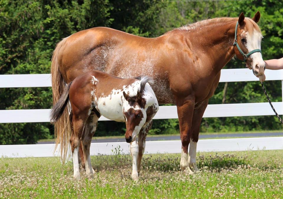
[[[51,60],[53,105],[55,105],[59,101],[59,98],[65,90],[66,85],[59,70],[58,63],[59,51],[62,45],[64,44],[65,40],[66,38],[62,39],[62,41],[57,44]],[[65,163],[65,159],[68,152],[68,150],[64,149],[68,149],[69,139],[72,133],[69,115],[69,110],[65,108],[62,110],[61,117],[59,117],[56,122],[52,121],[55,125],[54,131],[56,138],[56,146],[54,151],[56,151],[58,144],[60,144],[60,154],[63,163]]]

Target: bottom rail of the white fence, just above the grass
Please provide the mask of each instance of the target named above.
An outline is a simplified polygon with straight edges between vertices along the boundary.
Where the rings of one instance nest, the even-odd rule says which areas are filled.
[[[0,157],[53,157],[55,144],[0,145]],[[129,144],[126,142],[91,143],[90,154],[114,155],[119,146],[122,154],[129,154]],[[198,141],[199,152],[221,151],[255,151],[283,149],[283,137],[207,139]],[[180,153],[181,141],[147,141],[145,154]]]

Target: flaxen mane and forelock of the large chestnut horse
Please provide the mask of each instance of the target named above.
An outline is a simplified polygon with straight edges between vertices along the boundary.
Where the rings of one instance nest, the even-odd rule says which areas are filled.
[[[253,28],[255,28],[257,31],[260,32],[259,26],[251,18],[245,17],[245,19],[247,19],[248,21],[251,22],[251,23],[247,23],[247,25],[250,28],[252,28],[251,26],[253,26]],[[205,19],[205,20],[198,21],[198,22],[195,22],[195,23],[187,24],[187,25],[182,26],[180,28],[174,28],[173,30],[171,30],[169,32],[176,31],[176,30],[195,31],[198,28],[205,27],[207,25],[213,26],[213,25],[217,25],[219,23],[227,23],[227,22],[230,22],[230,21],[237,21],[237,20],[238,20],[238,18],[231,18],[231,17],[220,17],[220,18],[213,18],[213,19]]]

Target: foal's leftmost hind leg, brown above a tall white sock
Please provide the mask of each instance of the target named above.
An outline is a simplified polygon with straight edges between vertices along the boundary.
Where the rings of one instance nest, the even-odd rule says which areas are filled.
[[[73,132],[70,138],[71,150],[73,153],[73,166],[74,166],[74,178],[80,179],[80,168],[79,168],[79,160],[78,153],[80,147],[80,138],[83,133],[84,121],[82,119],[78,119],[73,117]]]

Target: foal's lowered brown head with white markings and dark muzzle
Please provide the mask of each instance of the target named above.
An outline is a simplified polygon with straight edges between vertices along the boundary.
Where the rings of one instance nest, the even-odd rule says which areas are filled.
[[[123,103],[123,113],[126,120],[126,142],[130,143],[136,139],[141,127],[145,124],[147,114],[144,109],[146,101],[138,91],[135,96],[129,96],[123,92],[125,100]]]

